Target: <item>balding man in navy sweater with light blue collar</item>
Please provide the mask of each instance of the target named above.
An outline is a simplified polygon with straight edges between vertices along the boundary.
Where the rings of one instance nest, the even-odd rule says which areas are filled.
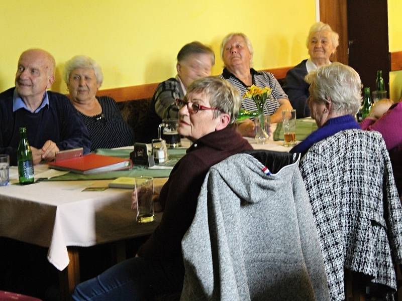
[[[20,56],[15,88],[0,94],[0,153],[17,164],[19,128],[27,128],[33,163],[54,160],[56,152],[83,147],[89,152],[85,124],[68,98],[47,92],[54,81],[55,61],[41,49],[29,49]]]

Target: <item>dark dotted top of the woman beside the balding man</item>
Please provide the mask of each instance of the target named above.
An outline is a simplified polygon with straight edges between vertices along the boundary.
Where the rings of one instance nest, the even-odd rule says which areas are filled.
[[[96,97],[102,113],[87,116],[78,111],[92,142],[91,150],[133,145],[133,129],[123,120],[116,101],[108,96]]]

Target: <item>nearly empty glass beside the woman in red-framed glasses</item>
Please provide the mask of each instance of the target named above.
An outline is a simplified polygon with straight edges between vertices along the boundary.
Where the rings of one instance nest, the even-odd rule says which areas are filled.
[[[137,222],[149,223],[154,220],[154,179],[152,177],[135,177],[137,195]]]

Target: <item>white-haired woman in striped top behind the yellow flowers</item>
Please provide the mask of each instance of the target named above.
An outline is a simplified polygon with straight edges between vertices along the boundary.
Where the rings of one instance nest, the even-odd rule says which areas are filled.
[[[292,107],[287,95],[272,73],[259,72],[251,68],[253,46],[249,38],[242,33],[227,35],[221,44],[221,57],[225,64],[221,77],[238,89],[241,97],[251,85],[271,89],[272,97],[265,103],[264,114],[271,116],[272,123],[281,121],[282,110]],[[250,111],[257,110],[257,106],[251,98],[243,99],[242,108]],[[243,136],[255,136],[254,122],[250,119],[240,123],[237,129]]]

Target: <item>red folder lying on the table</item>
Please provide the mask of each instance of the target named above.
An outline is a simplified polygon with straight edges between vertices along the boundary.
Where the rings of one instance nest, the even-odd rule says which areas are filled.
[[[129,159],[96,154],[89,154],[77,158],[49,163],[49,168],[84,175],[127,170],[130,167],[131,161]]]

